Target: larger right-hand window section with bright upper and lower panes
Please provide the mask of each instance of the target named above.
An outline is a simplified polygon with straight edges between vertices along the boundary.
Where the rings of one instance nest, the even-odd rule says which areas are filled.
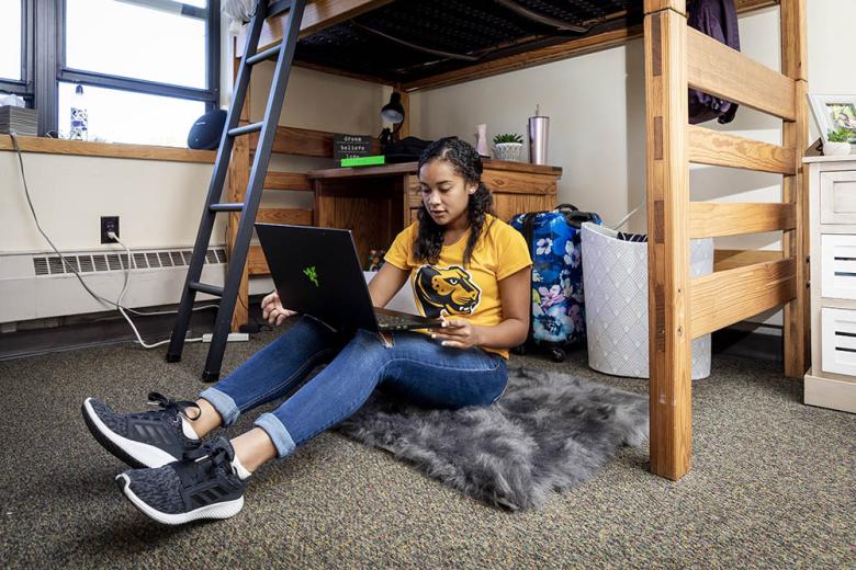
[[[77,83],[90,140],[185,146],[193,122],[218,103],[218,3],[64,0],[60,137]]]

